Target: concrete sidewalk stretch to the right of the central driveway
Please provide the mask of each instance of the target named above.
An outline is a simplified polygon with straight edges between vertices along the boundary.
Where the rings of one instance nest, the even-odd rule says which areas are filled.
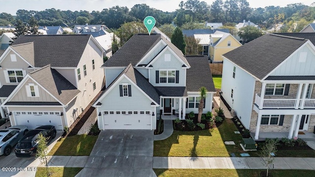
[[[153,157],[157,169],[266,169],[261,157]],[[274,169],[315,170],[315,158],[275,157]]]

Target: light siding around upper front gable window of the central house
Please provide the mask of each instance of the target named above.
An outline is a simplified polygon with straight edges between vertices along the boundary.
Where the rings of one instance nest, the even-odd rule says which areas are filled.
[[[171,56],[170,61],[165,61],[165,54]],[[183,68],[183,63],[179,61],[169,50],[163,52],[160,57],[152,64],[153,69],[150,69],[149,82],[154,87],[186,87],[186,68]],[[175,69],[179,71],[179,83],[156,83],[156,71],[159,69]]]

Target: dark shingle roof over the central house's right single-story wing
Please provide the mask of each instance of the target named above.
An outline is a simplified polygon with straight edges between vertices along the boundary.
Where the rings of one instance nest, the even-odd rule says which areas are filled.
[[[216,92],[212,80],[211,70],[207,56],[186,56],[190,64],[186,75],[186,90],[199,91],[199,88],[206,87],[210,92]]]

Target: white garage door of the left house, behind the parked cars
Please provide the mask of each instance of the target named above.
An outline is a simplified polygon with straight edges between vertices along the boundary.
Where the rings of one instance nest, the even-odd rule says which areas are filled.
[[[41,125],[54,125],[57,130],[63,130],[59,111],[19,111],[13,114],[16,125],[27,125],[30,129]]]

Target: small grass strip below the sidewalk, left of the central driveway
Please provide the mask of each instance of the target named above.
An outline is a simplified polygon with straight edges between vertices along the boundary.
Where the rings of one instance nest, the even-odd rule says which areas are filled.
[[[69,167],[51,167],[49,168],[51,175],[49,177],[74,177],[83,168],[69,168]],[[46,168],[38,167],[35,177],[47,177]]]

